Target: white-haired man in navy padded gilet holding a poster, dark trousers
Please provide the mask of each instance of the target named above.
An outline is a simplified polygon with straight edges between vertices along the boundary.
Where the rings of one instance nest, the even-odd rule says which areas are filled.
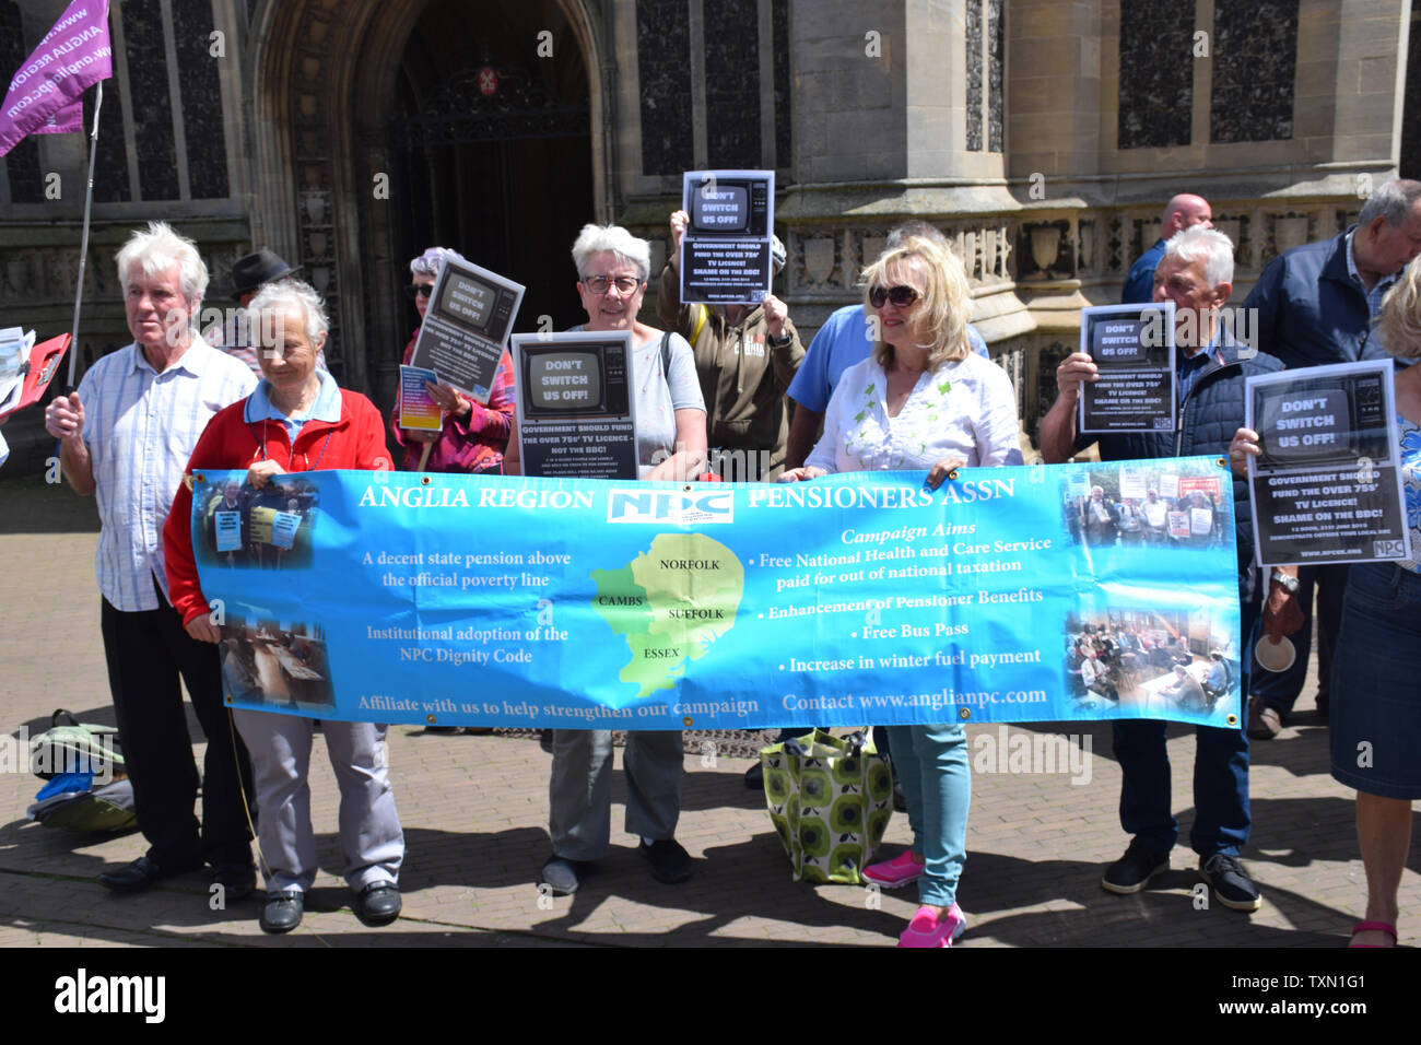
[[[1233,245],[1205,227],[1177,233],[1155,269],[1157,301],[1175,303],[1179,409],[1174,432],[1098,436],[1103,461],[1158,459],[1192,455],[1225,456],[1243,425],[1243,388],[1250,374],[1269,374],[1283,364],[1252,355],[1219,323],[1233,282]],[[1073,353],[1056,370],[1060,395],[1042,421],[1042,454],[1047,462],[1066,461],[1094,436],[1079,436],[1076,414],[1081,381],[1097,380],[1096,364]],[[1239,648],[1243,650],[1258,617],[1253,597],[1253,526],[1248,483],[1233,479],[1238,529]],[[1199,873],[1219,903],[1235,910],[1258,910],[1258,887],[1238,860],[1249,836],[1248,736],[1241,728],[1198,727],[1194,762],[1194,829],[1189,842],[1199,854]],[[1123,719],[1114,724],[1115,758],[1123,773],[1120,822],[1133,836],[1125,854],[1101,879],[1111,893],[1138,893],[1169,866],[1179,825],[1169,810],[1169,759],[1165,724]]]

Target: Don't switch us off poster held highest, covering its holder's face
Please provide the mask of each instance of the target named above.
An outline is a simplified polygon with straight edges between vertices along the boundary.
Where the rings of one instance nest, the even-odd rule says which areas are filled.
[[[774,277],[773,171],[686,171],[681,240],[684,304],[759,304]]]

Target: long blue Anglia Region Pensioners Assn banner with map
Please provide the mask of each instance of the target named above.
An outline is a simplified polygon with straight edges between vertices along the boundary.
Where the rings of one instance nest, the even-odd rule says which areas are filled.
[[[890,472],[244,481],[200,473],[193,495],[234,707],[512,728],[1238,722],[1214,458],[973,468],[932,492]]]

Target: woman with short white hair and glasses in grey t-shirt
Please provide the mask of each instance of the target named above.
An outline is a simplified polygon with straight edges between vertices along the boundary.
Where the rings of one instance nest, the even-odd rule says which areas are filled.
[[[706,463],[706,411],[691,345],[637,318],[651,273],[651,245],[617,225],[587,225],[573,245],[577,293],[588,331],[631,331],[631,394],[637,400],[637,472],[641,479],[685,481]],[[519,471],[517,432],[509,472]],[[681,816],[679,731],[637,731],[627,738],[627,830],[658,881],[691,877],[691,856],[675,839]],[[577,890],[611,842],[612,735],[610,729],[554,729],[549,781],[553,854],[543,881],[557,894]]]

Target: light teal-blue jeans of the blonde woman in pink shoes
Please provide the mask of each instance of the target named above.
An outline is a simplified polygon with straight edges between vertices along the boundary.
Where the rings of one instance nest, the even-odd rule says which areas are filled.
[[[918,900],[951,907],[968,859],[968,806],[972,771],[961,722],[891,725],[898,782],[908,799],[914,856],[924,859]]]

